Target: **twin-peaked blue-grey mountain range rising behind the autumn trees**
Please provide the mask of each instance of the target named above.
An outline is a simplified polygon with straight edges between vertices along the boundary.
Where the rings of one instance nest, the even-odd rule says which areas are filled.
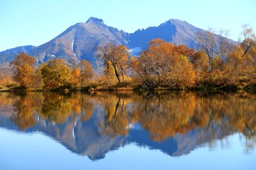
[[[138,56],[147,48],[147,42],[159,38],[173,42],[175,45],[184,44],[196,49],[199,46],[196,33],[200,30],[202,29],[185,21],[170,19],[158,27],[126,33],[109,27],[102,19],[91,17],[85,23],[72,25],[59,36],[40,46],[20,46],[0,52],[0,64],[13,61],[18,52],[25,52],[36,57],[39,63],[47,62],[50,58],[63,58],[67,62],[87,59],[95,67],[97,58],[95,48],[98,45],[105,46],[109,42],[126,45],[132,54]],[[228,41],[233,42],[233,40]]]

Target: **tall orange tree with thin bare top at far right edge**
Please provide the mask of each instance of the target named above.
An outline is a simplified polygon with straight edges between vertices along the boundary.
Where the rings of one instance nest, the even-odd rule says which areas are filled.
[[[256,83],[256,37],[249,24],[242,25],[239,43],[227,58],[225,69],[231,86]]]

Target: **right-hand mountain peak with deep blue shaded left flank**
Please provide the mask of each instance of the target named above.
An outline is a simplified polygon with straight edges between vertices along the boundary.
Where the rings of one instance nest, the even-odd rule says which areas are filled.
[[[196,33],[200,31],[185,21],[170,19],[160,24],[158,27],[149,27],[147,29],[138,29],[129,35],[128,46],[131,49],[146,49],[147,43],[152,39],[163,39],[167,42],[173,42],[175,45],[183,44],[189,48],[197,48]],[[138,52],[137,52],[138,54]]]

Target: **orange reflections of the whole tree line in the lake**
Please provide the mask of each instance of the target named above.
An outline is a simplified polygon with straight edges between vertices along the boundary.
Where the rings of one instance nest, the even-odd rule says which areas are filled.
[[[75,128],[82,131],[78,128],[87,122],[98,137],[128,137],[140,125],[155,142],[194,130],[197,142],[210,146],[236,132],[245,137],[247,151],[256,143],[256,95],[246,91],[2,93],[0,106],[0,117],[25,131],[39,121],[62,126],[72,122],[73,135],[79,135]]]

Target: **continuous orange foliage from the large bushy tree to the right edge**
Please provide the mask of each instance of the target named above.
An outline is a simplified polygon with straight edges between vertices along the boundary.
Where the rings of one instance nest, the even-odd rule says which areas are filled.
[[[184,45],[152,40],[141,57],[130,58],[134,85],[143,88],[236,88],[255,84],[253,46],[250,53],[244,54],[241,45],[226,53],[226,45],[220,49],[225,51],[220,53],[226,54],[226,59],[222,59],[214,52],[209,57],[203,51],[195,52]]]

